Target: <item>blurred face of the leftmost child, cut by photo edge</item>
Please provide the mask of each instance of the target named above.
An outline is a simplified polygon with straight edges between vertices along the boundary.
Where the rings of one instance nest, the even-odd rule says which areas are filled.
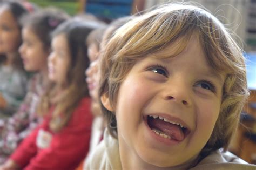
[[[0,53],[11,53],[18,50],[21,42],[21,32],[11,11],[6,7],[0,8]]]

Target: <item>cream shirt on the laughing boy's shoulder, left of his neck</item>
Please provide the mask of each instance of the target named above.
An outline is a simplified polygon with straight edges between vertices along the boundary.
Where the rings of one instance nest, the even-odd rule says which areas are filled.
[[[118,141],[107,129],[104,131],[104,139],[86,159],[84,169],[122,169]]]

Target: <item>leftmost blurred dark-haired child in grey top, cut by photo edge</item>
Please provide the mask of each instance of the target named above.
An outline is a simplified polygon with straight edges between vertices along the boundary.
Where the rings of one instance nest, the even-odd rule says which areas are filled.
[[[26,94],[28,77],[18,53],[22,43],[18,19],[27,12],[18,2],[0,4],[0,118],[13,114]]]

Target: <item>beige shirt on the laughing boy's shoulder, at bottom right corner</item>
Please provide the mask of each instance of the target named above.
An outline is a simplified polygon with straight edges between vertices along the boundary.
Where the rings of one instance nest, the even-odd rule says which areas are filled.
[[[218,151],[212,152],[206,158],[201,160],[197,166],[191,168],[191,170],[200,170],[200,169],[248,169],[255,170],[256,165],[248,164],[246,161],[240,159],[231,152],[223,152],[221,149]]]

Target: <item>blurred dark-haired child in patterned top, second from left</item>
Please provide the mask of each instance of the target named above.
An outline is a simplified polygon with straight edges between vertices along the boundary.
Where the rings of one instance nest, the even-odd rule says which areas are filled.
[[[41,122],[37,105],[48,81],[47,58],[51,51],[50,33],[68,19],[57,9],[44,9],[30,13],[21,19],[23,43],[19,52],[26,71],[35,72],[30,78],[28,92],[18,111],[2,120],[0,128],[0,163],[16,149],[28,134]]]

